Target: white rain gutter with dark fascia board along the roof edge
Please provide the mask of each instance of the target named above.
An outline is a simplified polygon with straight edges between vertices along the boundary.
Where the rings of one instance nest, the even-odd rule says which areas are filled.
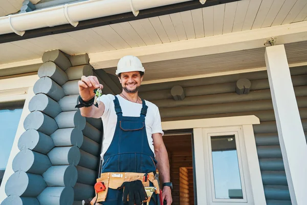
[[[130,1],[130,4],[129,1],[121,2],[120,0],[83,1],[3,17],[0,15],[0,43],[78,31],[242,0],[168,0],[150,4],[142,0]],[[57,17],[52,18],[52,15]],[[41,20],[35,20],[37,18]]]

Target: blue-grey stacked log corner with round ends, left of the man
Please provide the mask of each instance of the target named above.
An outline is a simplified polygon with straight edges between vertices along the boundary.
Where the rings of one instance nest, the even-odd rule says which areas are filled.
[[[78,80],[94,71],[86,54],[67,56],[59,50],[42,56],[2,205],[72,205],[95,196],[102,121],[75,108]]]

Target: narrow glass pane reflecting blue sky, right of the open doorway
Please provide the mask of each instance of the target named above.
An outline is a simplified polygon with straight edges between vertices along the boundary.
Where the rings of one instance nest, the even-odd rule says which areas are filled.
[[[243,199],[235,135],[211,136],[216,199]]]

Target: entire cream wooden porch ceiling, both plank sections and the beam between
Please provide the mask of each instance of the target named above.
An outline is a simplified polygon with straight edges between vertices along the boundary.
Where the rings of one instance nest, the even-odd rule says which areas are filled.
[[[242,0],[3,43],[0,76],[35,72],[43,52],[54,49],[88,53],[95,69],[112,74],[120,57],[136,55],[146,69],[144,84],[265,70],[271,37],[286,46],[290,66],[307,65],[307,2],[292,9],[289,2]]]

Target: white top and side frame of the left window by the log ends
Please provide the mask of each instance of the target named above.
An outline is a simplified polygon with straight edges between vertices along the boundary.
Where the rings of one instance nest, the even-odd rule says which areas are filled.
[[[33,92],[33,86],[38,79],[39,79],[38,75],[0,79],[0,103],[25,100],[23,112],[21,112],[12,150],[0,186],[0,203],[2,203],[2,201],[7,197],[5,193],[5,185],[8,178],[14,173],[12,168],[12,162],[17,153],[19,152],[18,140],[21,134],[23,134],[26,131],[24,128],[24,120],[30,113],[29,101],[35,95]]]

